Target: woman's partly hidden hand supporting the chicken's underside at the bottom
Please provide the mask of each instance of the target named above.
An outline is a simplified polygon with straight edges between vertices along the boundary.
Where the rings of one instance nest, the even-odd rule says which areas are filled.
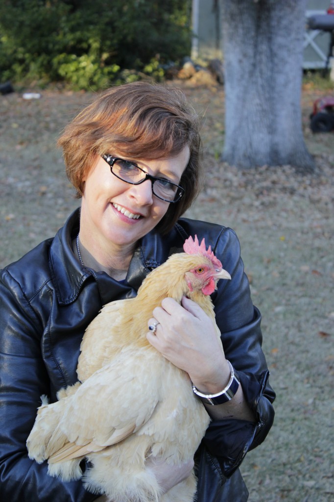
[[[167,463],[162,457],[148,457],[145,465],[153,472],[162,492],[166,493],[190,476],[194,468],[194,460],[191,459],[177,466]]]

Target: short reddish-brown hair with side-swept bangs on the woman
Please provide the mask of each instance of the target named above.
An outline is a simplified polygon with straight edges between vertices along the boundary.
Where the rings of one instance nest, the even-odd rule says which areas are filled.
[[[66,174],[78,197],[96,156],[112,154],[115,149],[118,155],[133,159],[169,158],[188,146],[190,158],[180,181],[185,195],[170,204],[157,225],[161,233],[173,227],[202,188],[198,116],[180,89],[147,82],[112,87],[68,124],[58,145],[63,148]]]

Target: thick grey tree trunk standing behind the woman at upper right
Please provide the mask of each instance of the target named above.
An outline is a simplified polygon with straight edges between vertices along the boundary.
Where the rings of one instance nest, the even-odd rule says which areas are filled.
[[[312,170],[301,129],[305,0],[223,0],[223,159]]]

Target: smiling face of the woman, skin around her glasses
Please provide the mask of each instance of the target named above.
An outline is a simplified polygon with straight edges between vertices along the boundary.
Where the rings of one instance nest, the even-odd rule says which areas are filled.
[[[107,153],[117,156],[117,152]],[[126,160],[132,160],[152,176],[179,184],[189,155],[189,148],[185,147],[178,156],[170,159]],[[169,202],[153,195],[150,180],[130,185],[114,176],[101,157],[96,159],[96,164],[83,181],[80,238],[86,246],[88,239],[94,239],[97,245],[104,248],[110,245],[134,246],[138,239],[157,225],[169,208]]]

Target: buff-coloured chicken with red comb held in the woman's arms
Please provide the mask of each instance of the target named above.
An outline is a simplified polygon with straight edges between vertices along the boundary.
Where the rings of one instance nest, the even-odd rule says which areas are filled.
[[[210,294],[219,279],[231,277],[204,239],[199,244],[189,237],[184,253],[153,270],[135,298],[105,305],[84,334],[79,382],[62,389],[55,403],[42,397],[27,440],[29,457],[48,459],[49,474],[64,481],[83,477],[87,489],[113,502],[192,502],[194,472],[161,495],[145,460],[189,461],[210,418],[188,373],[147,341],[147,323],[163,298],[180,303],[188,296],[216,326]],[[84,474],[83,458],[90,462]]]

